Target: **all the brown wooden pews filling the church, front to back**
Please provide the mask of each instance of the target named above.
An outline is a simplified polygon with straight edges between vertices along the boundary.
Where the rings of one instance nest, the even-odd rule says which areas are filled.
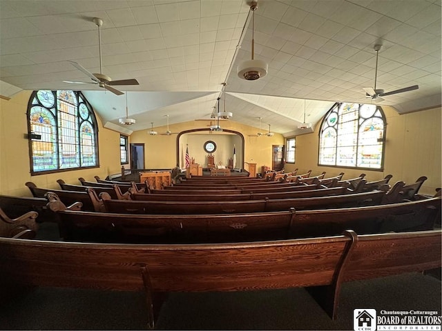
[[[29,182],[34,197],[0,196],[0,281],[144,291],[147,328],[175,291],[302,287],[336,319],[343,283],[442,264],[441,190],[419,194],[426,177],[390,186],[391,175],[343,175],[192,177],[161,192]],[[44,222],[62,241],[32,239]]]

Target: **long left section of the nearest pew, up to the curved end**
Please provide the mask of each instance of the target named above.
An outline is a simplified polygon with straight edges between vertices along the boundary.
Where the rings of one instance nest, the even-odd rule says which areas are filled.
[[[144,292],[146,328],[153,329],[162,304],[155,294],[334,285],[349,242],[338,236],[171,246],[0,238],[0,281],[12,284],[10,288],[32,285]]]

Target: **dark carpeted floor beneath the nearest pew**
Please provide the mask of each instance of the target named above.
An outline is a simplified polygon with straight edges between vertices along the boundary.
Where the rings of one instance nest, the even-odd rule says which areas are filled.
[[[441,281],[420,273],[343,285],[332,321],[303,288],[175,293],[159,330],[353,330],[353,310],[437,310]],[[35,288],[0,305],[1,330],[143,330],[143,293]]]

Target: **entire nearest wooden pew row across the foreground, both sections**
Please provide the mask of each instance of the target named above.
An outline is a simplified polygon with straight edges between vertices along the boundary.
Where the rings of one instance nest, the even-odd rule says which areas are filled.
[[[162,293],[302,287],[336,319],[345,281],[440,266],[440,230],[200,245],[0,238],[3,285],[143,291],[149,329]]]

